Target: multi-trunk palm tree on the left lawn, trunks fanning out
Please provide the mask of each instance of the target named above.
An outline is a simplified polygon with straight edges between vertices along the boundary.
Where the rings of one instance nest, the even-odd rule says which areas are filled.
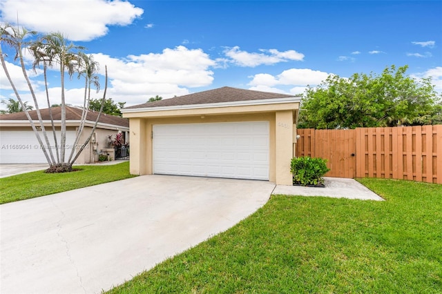
[[[71,153],[69,160],[65,161],[65,150],[66,148],[58,148],[57,145],[57,135],[55,133],[55,124],[52,119],[52,110],[51,110],[51,104],[50,99],[48,95],[48,82],[46,79],[46,72],[48,67],[59,67],[60,72],[60,81],[61,81],[61,138],[60,138],[60,145],[65,146],[66,145],[66,101],[65,101],[65,86],[64,86],[64,76],[67,72],[69,77],[72,77],[72,75],[75,72],[82,72],[82,76],[86,79],[86,86],[85,86],[85,102],[84,106],[86,106],[86,100],[87,104],[89,103],[90,99],[90,88],[92,86],[95,86],[97,88],[97,91],[99,90],[99,83],[98,83],[98,76],[96,75],[98,71],[98,63],[93,61],[92,57],[87,57],[84,55],[81,50],[84,49],[84,47],[81,46],[75,46],[73,43],[67,43],[64,39],[64,36],[59,33],[50,33],[49,35],[45,35],[44,37],[41,37],[39,39],[31,41],[23,41],[24,39],[28,39],[28,35],[36,35],[36,32],[29,32],[25,28],[21,28],[19,30],[18,28],[15,29],[12,26],[8,24],[1,24],[0,25],[0,33],[1,33],[1,39],[0,39],[0,61],[1,66],[6,74],[6,77],[8,78],[8,81],[10,82],[10,85],[12,87],[12,90],[15,92],[15,95],[17,96],[17,100],[19,101],[19,104],[21,106],[21,109],[26,114],[26,117],[30,121],[32,130],[34,130],[34,133],[37,137],[37,140],[41,146],[43,146],[43,142],[41,140],[41,137],[39,133],[42,133],[44,135],[44,139],[46,140],[46,146],[50,146],[50,142],[48,141],[48,136],[46,134],[46,130],[44,128],[43,121],[41,119],[41,114],[39,111],[39,106],[37,104],[37,99],[35,98],[35,92],[32,88],[32,84],[30,83],[30,79],[28,77],[28,74],[26,72],[25,64],[23,61],[23,50],[28,50],[32,53],[32,56],[34,57],[34,63],[32,65],[33,69],[40,67],[43,65],[44,68],[44,79],[45,79],[45,88],[46,88],[46,100],[48,103],[48,109],[50,112],[50,119],[52,124],[52,132],[54,134],[54,140],[56,144],[55,152],[57,154],[57,161],[55,161],[53,155],[52,155],[52,148],[42,148],[44,155],[46,157],[46,160],[48,161],[49,168],[46,170],[48,173],[58,173],[58,172],[66,172],[72,170],[72,165],[75,162],[75,160],[79,157],[81,151],[84,148],[81,148],[79,152],[77,152],[77,155],[75,158],[71,161],[71,157],[73,156],[73,153]],[[29,40],[29,39],[28,39]],[[3,55],[3,51],[1,49],[1,46],[3,44],[6,44],[10,46],[11,48],[15,49],[16,55],[15,59],[19,59],[21,69],[23,72],[23,76],[25,77],[28,88],[30,90],[30,93],[32,95],[32,99],[34,99],[35,103],[35,110],[37,110],[37,117],[39,118],[39,124],[41,127],[41,132],[37,131],[37,128],[35,126],[35,122],[32,121],[32,118],[30,117],[27,108],[26,103],[23,103],[21,100],[21,97],[19,95],[19,92],[17,88],[15,87],[14,81],[12,81],[12,78],[10,77],[10,74],[8,72],[8,68],[6,66],[5,56]],[[105,67],[106,68],[106,67]],[[106,90],[107,90],[107,68],[105,70],[106,72],[106,81],[105,81],[105,87],[104,87],[104,96],[103,101],[106,99]],[[86,97],[86,93],[88,96]],[[84,108],[84,111],[87,111],[87,108]],[[88,137],[86,139],[83,146],[86,146],[88,142],[90,141],[90,138],[92,137],[93,133],[95,132],[95,128],[97,126],[99,117],[101,115],[103,109],[100,109],[100,112],[97,116],[97,120],[95,121],[95,125],[93,126],[93,129]],[[84,126],[84,120],[86,119],[86,112],[84,112],[84,115],[82,115],[81,119],[81,126]],[[81,128],[82,129],[82,128]],[[75,144],[79,140],[79,135],[81,135],[80,132],[77,132],[77,137],[75,138]],[[59,153],[58,153],[59,150]],[[73,150],[74,152],[74,150]]]

